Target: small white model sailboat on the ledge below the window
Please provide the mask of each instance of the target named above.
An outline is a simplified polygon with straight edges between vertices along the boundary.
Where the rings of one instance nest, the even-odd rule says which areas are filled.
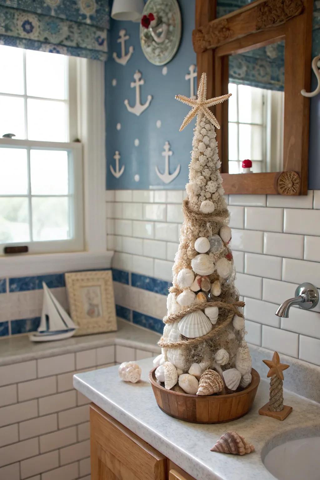
[[[43,287],[43,307],[41,321],[36,333],[30,335],[32,342],[48,342],[71,337],[75,325],[68,313],[61,307],[59,301],[52,295],[45,282]]]

